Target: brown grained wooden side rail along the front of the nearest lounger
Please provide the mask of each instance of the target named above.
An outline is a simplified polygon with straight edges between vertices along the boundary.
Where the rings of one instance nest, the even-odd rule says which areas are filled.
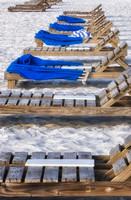
[[[1,197],[131,196],[130,182],[7,184],[0,186]]]

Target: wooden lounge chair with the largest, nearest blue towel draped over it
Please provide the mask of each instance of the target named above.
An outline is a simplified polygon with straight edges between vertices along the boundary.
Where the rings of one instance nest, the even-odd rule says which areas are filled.
[[[88,63],[76,63],[76,62],[68,62],[68,61],[51,61],[51,60],[42,60],[40,58],[32,57],[30,54],[22,56],[14,61],[9,68],[6,70],[4,77],[7,80],[7,87],[9,89],[13,89],[16,87],[16,83],[18,80],[23,81],[26,79],[30,80],[48,80],[48,79],[66,79],[66,80],[78,80],[83,83],[86,82],[87,79],[105,79],[105,78],[116,78],[118,77],[124,69],[127,69],[129,66],[124,61],[123,55],[127,50],[127,44],[123,42],[119,47],[117,47],[112,53],[110,53],[106,58],[104,58],[101,62],[94,63],[91,65]],[[19,61],[22,59],[22,61]],[[38,64],[35,60],[38,59]],[[25,65],[23,65],[23,60]],[[33,64],[34,63],[34,64]],[[41,64],[42,63],[42,64]],[[44,64],[43,64],[44,63]],[[46,64],[45,64],[46,63]],[[117,65],[112,65],[116,63]],[[38,66],[39,65],[39,66]],[[48,66],[49,69],[44,68],[44,66]],[[40,67],[40,68],[38,68]],[[50,68],[53,67],[53,68]],[[59,71],[58,71],[59,69]],[[64,69],[63,71],[60,69]],[[67,72],[66,72],[67,69]],[[70,72],[70,69],[71,70]],[[49,70],[46,71],[46,70]],[[69,71],[68,71],[69,70]],[[76,70],[76,72],[75,72]],[[80,71],[79,71],[80,70]],[[33,76],[31,76],[33,71]],[[57,74],[58,73],[60,74]],[[37,74],[40,76],[36,79]],[[51,73],[49,76],[46,73]],[[52,74],[54,73],[54,74]],[[67,73],[65,76],[63,73]]]

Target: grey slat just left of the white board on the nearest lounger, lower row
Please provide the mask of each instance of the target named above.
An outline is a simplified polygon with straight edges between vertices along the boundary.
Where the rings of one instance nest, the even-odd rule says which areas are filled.
[[[6,182],[21,183],[23,173],[24,173],[24,166],[10,167],[6,177]]]

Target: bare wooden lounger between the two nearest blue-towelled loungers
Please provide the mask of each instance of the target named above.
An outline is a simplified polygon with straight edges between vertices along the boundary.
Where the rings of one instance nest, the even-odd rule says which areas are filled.
[[[96,44],[95,47],[91,48],[85,45],[70,45],[67,47],[45,45],[43,47],[26,48],[23,50],[23,54],[31,54],[33,56],[107,56],[108,53],[113,52],[114,48],[117,46],[112,41],[112,35],[115,35],[115,33],[112,32],[107,37],[104,37],[98,44]],[[113,47],[106,47],[108,43],[111,43]],[[126,55],[127,50],[124,52],[123,56],[125,57]]]

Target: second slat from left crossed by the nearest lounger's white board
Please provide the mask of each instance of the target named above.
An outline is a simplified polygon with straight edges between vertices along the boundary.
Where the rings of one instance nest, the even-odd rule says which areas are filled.
[[[49,152],[47,155],[47,160],[58,160],[60,159],[60,152]],[[59,166],[57,167],[45,167],[43,182],[58,182],[59,181]]]

